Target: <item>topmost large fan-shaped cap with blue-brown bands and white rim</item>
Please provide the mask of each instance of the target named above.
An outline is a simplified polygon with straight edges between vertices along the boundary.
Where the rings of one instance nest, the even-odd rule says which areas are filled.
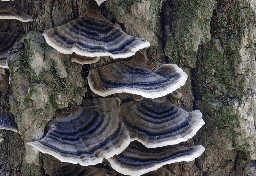
[[[149,42],[127,35],[98,11],[86,13],[63,26],[43,33],[46,42],[63,54],[73,52],[87,57],[126,58],[150,46]]]

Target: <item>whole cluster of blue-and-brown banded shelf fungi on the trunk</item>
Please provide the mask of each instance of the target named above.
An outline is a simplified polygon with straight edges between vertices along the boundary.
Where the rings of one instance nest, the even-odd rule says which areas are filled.
[[[10,14],[16,12],[12,8],[0,1],[0,18],[32,21],[17,10],[16,14]],[[17,35],[1,34],[5,38],[12,36],[9,38],[13,41],[2,51],[19,40],[21,36]],[[142,175],[165,164],[192,161],[204,152],[200,145],[178,145],[192,138],[204,121],[200,111],[186,112],[165,97],[185,84],[187,74],[176,64],[163,64],[154,71],[147,69],[146,59],[139,50],[150,46],[149,42],[127,35],[90,9],[42,35],[48,45],[72,54],[71,61],[79,64],[97,62],[101,56],[114,59],[133,56],[128,61],[90,70],[88,83],[100,96],[126,92],[134,94],[134,100],[121,104],[114,97],[84,99],[80,106],[69,103],[67,108],[56,112],[41,140],[28,143],[36,151],[82,166],[95,165],[106,158],[113,169],[125,175]],[[0,67],[8,69],[7,61],[0,60]],[[0,128],[18,132],[12,115],[0,117]]]

